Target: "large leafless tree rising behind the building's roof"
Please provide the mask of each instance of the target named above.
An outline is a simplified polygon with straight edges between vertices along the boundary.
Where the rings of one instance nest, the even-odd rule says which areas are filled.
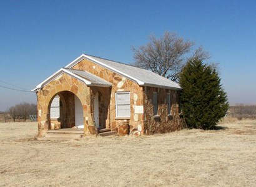
[[[148,44],[138,49],[133,47],[132,50],[137,67],[177,81],[179,73],[190,59],[209,59],[209,54],[201,46],[191,57],[187,57],[192,46],[194,46],[193,42],[184,41],[182,37],[177,37],[174,33],[165,32],[164,36],[159,39],[151,35]]]

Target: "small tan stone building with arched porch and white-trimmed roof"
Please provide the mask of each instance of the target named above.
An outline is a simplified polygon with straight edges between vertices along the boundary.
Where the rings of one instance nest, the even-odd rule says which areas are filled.
[[[150,135],[179,130],[179,84],[149,70],[82,54],[36,86],[38,136],[77,128]]]

